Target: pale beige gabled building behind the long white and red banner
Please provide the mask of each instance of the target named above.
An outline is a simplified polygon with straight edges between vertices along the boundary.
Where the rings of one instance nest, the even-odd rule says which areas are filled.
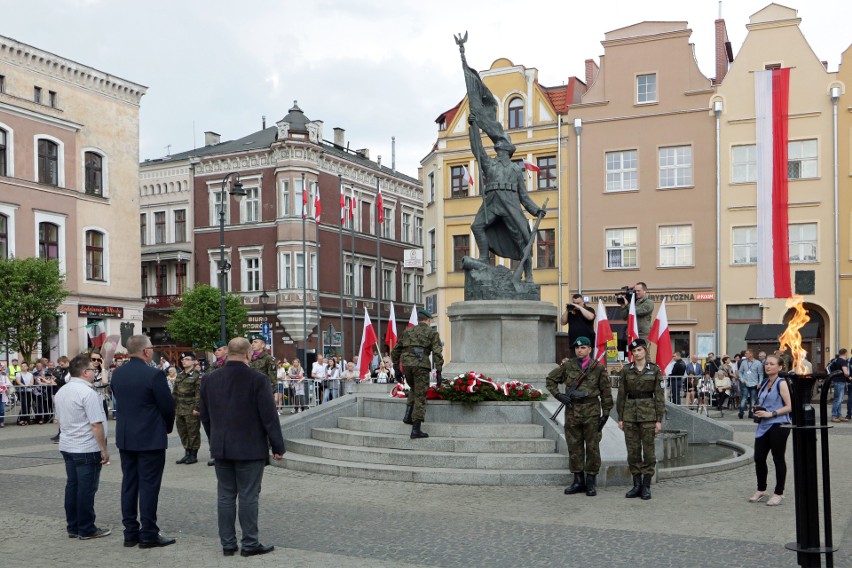
[[[827,361],[829,347],[837,344],[829,96],[836,79],[808,45],[800,22],[795,10],[778,4],[753,14],[742,48],[717,93],[710,97],[710,114],[713,116],[714,109],[719,112],[720,129],[721,345],[728,353],[740,351],[746,347],[746,333],[752,326],[784,324],[789,319],[784,299],[757,297],[754,73],[790,68],[790,280],[793,293],[804,296],[811,321],[817,324],[806,348],[819,369]],[[754,345],[754,339],[749,343]],[[764,339],[767,348],[777,343],[769,336]]]

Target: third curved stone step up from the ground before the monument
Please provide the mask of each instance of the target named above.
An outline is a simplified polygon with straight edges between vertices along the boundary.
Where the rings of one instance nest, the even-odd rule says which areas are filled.
[[[342,428],[314,428],[311,437],[344,446],[396,450],[509,454],[546,454],[556,451],[556,443],[545,438],[441,438],[430,434],[426,439],[412,440],[408,433],[382,434]]]

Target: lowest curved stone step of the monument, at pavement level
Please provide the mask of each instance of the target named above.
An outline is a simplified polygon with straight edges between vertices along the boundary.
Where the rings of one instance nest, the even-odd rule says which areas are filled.
[[[422,468],[398,465],[348,462],[302,454],[284,454],[282,466],[294,471],[377,481],[409,481],[456,485],[568,485],[572,476],[567,469],[503,470]]]

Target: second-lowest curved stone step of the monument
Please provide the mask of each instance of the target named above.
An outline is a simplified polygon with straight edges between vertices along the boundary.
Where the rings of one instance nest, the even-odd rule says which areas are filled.
[[[287,441],[287,452],[346,462],[391,466],[480,470],[566,470],[568,458],[545,454],[464,453],[353,447],[314,439]]]

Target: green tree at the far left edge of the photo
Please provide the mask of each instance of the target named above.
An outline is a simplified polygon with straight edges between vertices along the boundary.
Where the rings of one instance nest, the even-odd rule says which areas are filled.
[[[32,362],[43,337],[56,332],[56,314],[68,296],[59,261],[43,258],[0,259],[0,342]]]

